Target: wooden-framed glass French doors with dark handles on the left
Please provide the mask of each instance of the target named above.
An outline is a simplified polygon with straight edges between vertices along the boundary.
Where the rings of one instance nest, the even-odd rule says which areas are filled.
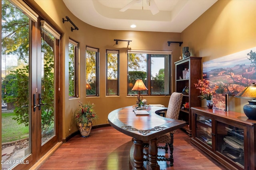
[[[13,148],[2,170],[30,168],[61,140],[59,45],[22,0],[2,0],[2,148]]]

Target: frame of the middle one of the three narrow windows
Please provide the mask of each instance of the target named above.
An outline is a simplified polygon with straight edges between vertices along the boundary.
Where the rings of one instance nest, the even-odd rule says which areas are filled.
[[[94,51],[96,52],[96,56],[95,56],[95,92],[96,94],[92,94],[92,95],[87,95],[86,94],[86,97],[98,97],[100,96],[99,94],[99,49],[98,48],[94,48],[94,47],[90,47],[90,46],[86,46],[86,56],[85,56],[85,59],[87,58],[87,51]],[[86,61],[86,60],[85,60]],[[85,62],[85,67],[86,67],[86,62]],[[85,72],[86,74],[86,72]],[[85,80],[86,84],[87,84],[87,80]],[[86,84],[85,84],[85,87],[86,87]]]

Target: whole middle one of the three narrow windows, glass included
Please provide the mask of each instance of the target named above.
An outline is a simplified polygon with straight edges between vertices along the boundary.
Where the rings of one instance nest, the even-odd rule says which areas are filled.
[[[86,96],[99,96],[98,69],[98,49],[86,47]]]

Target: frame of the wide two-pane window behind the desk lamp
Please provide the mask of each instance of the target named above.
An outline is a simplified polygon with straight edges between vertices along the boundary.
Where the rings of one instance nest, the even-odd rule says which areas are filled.
[[[133,94],[128,94],[129,92],[129,54],[146,54],[147,61],[146,61],[146,74],[147,74],[147,80],[146,80],[146,86],[148,88],[147,93],[143,94],[143,96],[169,96],[172,91],[172,51],[146,51],[146,50],[127,50],[127,96],[131,96]],[[151,55],[157,54],[157,55],[168,55],[168,65],[169,65],[169,72],[168,72],[168,82],[169,82],[169,92],[168,94],[152,94],[151,92]],[[142,93],[145,91],[142,91]]]

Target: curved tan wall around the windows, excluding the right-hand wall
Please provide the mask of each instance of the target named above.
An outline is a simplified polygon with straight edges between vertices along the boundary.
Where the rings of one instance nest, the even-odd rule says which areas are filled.
[[[73,133],[78,128],[72,122],[74,111],[78,108],[78,101],[90,101],[96,105],[95,110],[99,116],[96,124],[104,124],[107,122],[108,113],[114,109],[124,106],[130,106],[136,103],[136,97],[127,97],[127,50],[159,50],[172,51],[172,63],[179,60],[180,49],[179,44],[171,44],[168,46],[167,41],[180,41],[180,33],[161,33],[161,32],[142,32],[142,31],[111,31],[92,27],[78,18],[76,18],[66,8],[61,0],[31,0],[36,8],[42,8],[42,14],[46,19],[51,21],[53,26],[58,28],[62,33],[63,42],[63,61],[64,70],[62,76],[64,78],[64,103],[63,103],[63,138],[66,138],[70,133]],[[36,2],[36,4],[34,3]],[[62,18],[68,16],[79,30],[71,32],[71,23],[62,23]],[[79,75],[79,98],[68,98],[68,38],[79,43],[80,50],[80,75]],[[114,39],[129,39],[132,40],[127,47],[127,42],[119,42],[115,44]],[[86,98],[85,86],[85,50],[86,45],[99,48],[100,50],[100,97]],[[106,97],[106,49],[120,50],[120,96]],[[172,68],[174,73],[174,65]],[[173,82],[173,81],[172,81]],[[172,88],[175,89],[174,86]],[[146,97],[148,104],[162,104],[168,106],[170,96],[162,97]],[[96,125],[94,124],[94,125]],[[69,131],[70,129],[70,131]]]

